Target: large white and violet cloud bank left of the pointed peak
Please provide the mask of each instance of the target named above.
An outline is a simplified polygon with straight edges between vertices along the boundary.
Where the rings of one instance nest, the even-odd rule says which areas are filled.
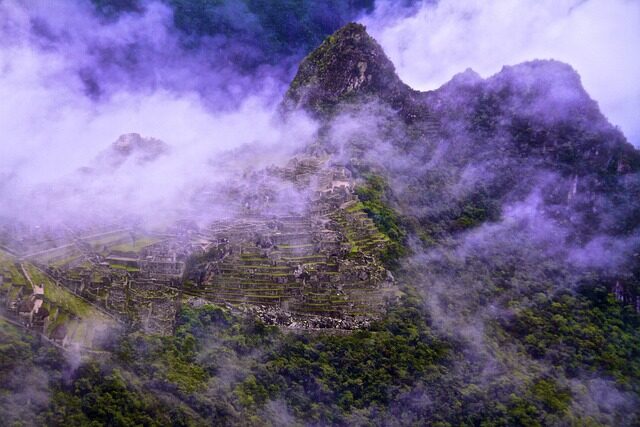
[[[222,153],[243,147],[246,167],[278,162],[315,132],[303,116],[278,116],[277,78],[236,73],[206,43],[183,49],[161,3],[105,21],[72,2],[6,1],[0,16],[0,217],[166,218],[197,187],[235,178],[217,162]],[[132,132],[163,141],[168,154],[78,173],[105,168],[100,153]]]

